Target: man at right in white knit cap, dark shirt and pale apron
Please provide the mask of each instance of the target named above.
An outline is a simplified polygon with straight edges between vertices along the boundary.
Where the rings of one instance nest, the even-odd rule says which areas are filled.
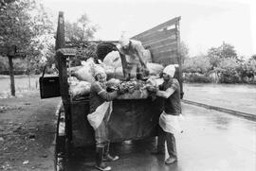
[[[159,129],[157,138],[157,149],[154,154],[164,154],[165,141],[167,142],[167,150],[169,158],[166,164],[177,161],[176,145],[174,132],[180,131],[179,117],[181,116],[180,104],[180,86],[178,80],[174,78],[175,67],[168,65],[163,70],[164,82],[156,89],[156,95],[164,98],[163,111],[159,118]]]

